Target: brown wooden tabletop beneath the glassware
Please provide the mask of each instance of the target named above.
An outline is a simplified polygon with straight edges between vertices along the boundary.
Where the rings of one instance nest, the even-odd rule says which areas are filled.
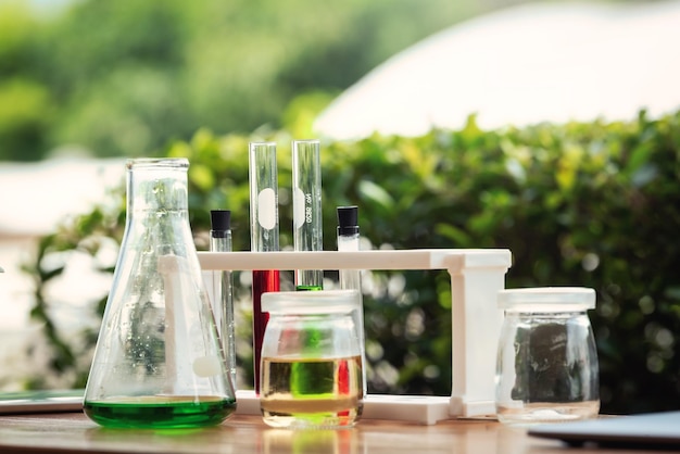
[[[235,415],[218,427],[194,430],[105,429],[81,413],[0,416],[0,452],[20,453],[617,453],[569,449],[489,419],[433,426],[363,419],[347,430],[272,429],[256,416]],[[635,451],[626,451],[627,454]],[[640,451],[638,451],[640,452]]]

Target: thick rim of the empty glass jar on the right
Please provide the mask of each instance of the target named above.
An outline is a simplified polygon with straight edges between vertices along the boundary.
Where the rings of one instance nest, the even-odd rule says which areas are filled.
[[[563,312],[595,308],[595,290],[585,287],[532,287],[500,290],[500,308]]]

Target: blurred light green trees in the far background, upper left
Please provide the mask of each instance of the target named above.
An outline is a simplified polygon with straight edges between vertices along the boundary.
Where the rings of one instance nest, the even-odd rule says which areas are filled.
[[[17,1],[0,3],[0,160],[38,160],[64,143],[140,156],[200,127],[280,128],[295,98],[340,92],[471,9],[448,0],[85,0],[38,20]],[[314,114],[329,98],[317,99]]]

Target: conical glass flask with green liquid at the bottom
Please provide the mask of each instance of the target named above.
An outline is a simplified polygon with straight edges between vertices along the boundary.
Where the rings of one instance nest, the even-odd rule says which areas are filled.
[[[84,403],[102,426],[209,426],[236,409],[189,226],[188,168],[127,162],[125,235]]]

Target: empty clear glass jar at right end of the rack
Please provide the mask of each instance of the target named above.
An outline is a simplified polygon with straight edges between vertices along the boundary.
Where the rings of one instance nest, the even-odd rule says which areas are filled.
[[[595,307],[594,290],[501,290],[498,302],[505,311],[495,377],[499,420],[531,424],[597,415],[597,351],[585,313]]]

